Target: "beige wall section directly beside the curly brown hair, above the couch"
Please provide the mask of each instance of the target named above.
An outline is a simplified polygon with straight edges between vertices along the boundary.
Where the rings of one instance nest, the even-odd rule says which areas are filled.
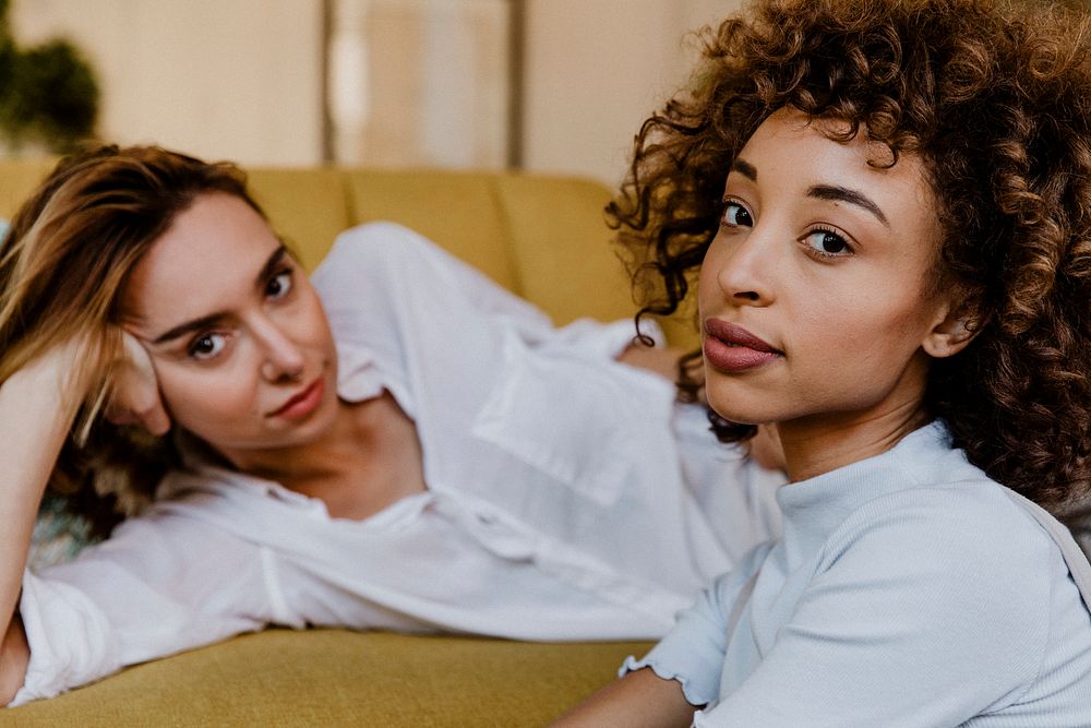
[[[610,184],[634,134],[688,77],[688,31],[739,0],[528,0],[524,158]]]

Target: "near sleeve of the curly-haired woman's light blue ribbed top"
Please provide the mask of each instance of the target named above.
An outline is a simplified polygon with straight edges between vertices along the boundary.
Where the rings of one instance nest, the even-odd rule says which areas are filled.
[[[1021,514],[937,498],[841,528],[788,623],[758,635],[760,663],[694,725],[931,728],[1018,701],[1044,656],[1053,544]]]

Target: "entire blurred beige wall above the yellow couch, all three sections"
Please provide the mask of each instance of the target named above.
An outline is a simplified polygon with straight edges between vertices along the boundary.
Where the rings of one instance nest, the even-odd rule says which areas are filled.
[[[497,74],[504,65],[495,60],[502,49],[484,41],[503,33],[494,2],[338,1],[368,9],[374,21],[365,32],[376,34],[372,45],[383,52],[369,73],[395,56],[413,58],[417,51],[406,56],[405,44],[428,35],[419,21],[395,22],[398,3],[409,11],[442,11],[431,47],[460,53],[449,68],[433,61],[427,74],[415,70],[422,60],[393,69],[412,75],[412,83],[373,81],[376,96],[384,92],[383,109],[372,109],[358,138],[362,152],[355,156],[369,164],[503,164],[503,109],[491,96],[475,102],[477,117],[464,108],[470,93],[503,95],[506,81]],[[686,32],[728,14],[739,0],[526,3],[524,164],[613,184],[640,122],[687,77],[695,52],[693,43],[685,49]],[[447,34],[464,21],[444,19],[452,9],[475,7],[469,40],[454,43]],[[106,139],[158,142],[243,164],[321,159],[321,0],[14,0],[12,24],[22,44],[62,34],[86,51],[103,82],[99,129]],[[463,89],[458,74],[468,65],[467,77],[476,82]],[[449,132],[458,124],[488,139],[440,148],[447,136],[455,139]],[[398,143],[406,146],[401,156],[395,154]]]

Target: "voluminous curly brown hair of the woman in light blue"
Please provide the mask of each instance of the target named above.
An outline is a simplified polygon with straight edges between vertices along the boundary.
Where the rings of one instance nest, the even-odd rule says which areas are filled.
[[[781,107],[919,155],[939,201],[936,278],[976,337],[925,405],[993,479],[1060,510],[1091,488],[1091,25],[1057,4],[766,0],[702,35],[692,88],[649,118],[607,210],[644,294],[686,301],[735,155]],[[834,132],[827,132],[832,134]],[[699,358],[691,355],[690,362]],[[682,367],[680,391],[699,387]],[[710,415],[722,440],[752,427]]]

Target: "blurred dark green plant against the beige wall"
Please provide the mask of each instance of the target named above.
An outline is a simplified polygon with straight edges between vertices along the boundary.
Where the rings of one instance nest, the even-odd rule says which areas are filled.
[[[98,81],[68,40],[53,38],[27,49],[11,33],[11,0],[0,0],[0,135],[10,150],[37,144],[70,152],[94,135]]]

